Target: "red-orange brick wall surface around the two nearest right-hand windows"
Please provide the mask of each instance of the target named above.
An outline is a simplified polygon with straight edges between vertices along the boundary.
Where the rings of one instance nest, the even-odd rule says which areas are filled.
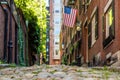
[[[103,31],[102,31],[102,27],[103,27],[103,22],[102,22],[102,16],[104,14],[104,8],[107,4],[109,0],[91,0],[91,3],[88,7],[88,10],[86,13],[82,13],[80,15],[80,21],[82,21],[83,23],[85,22],[85,19],[87,18],[87,21],[89,22],[91,14],[94,10],[94,8],[97,6],[98,7],[98,39],[95,42],[95,44],[93,46],[91,46],[90,49],[88,49],[88,58],[89,61],[92,61],[93,56],[97,55],[99,52],[101,53],[101,59],[104,61],[105,57],[108,53],[112,53],[114,54],[115,52],[117,52],[120,49],[120,37],[118,37],[120,35],[120,11],[119,11],[119,5],[120,5],[120,1],[119,0],[115,0],[115,39],[113,40],[113,42],[108,45],[106,48],[103,48]],[[85,48],[86,45],[86,35],[87,31],[85,31],[85,26],[82,26],[82,54],[84,56],[84,61],[86,60],[86,51],[87,48]]]

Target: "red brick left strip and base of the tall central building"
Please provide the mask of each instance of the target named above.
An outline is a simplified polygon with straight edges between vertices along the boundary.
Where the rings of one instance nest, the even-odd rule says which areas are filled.
[[[60,1],[61,2],[61,1]],[[57,5],[57,3],[56,3]],[[59,11],[61,12],[61,11]],[[60,14],[60,13],[59,13]],[[56,15],[58,15],[56,13]],[[60,15],[59,15],[60,16]],[[55,1],[54,0],[50,0],[50,59],[49,59],[49,64],[50,65],[57,65],[60,64],[60,59],[56,58],[57,56],[55,56],[55,38],[56,38],[56,34],[55,34]],[[56,21],[57,22],[57,21]]]

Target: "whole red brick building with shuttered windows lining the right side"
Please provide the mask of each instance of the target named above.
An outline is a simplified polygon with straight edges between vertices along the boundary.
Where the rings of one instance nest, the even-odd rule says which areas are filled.
[[[62,26],[67,64],[111,65],[120,55],[119,0],[65,0],[78,9],[74,28]],[[67,37],[67,38],[66,38]]]

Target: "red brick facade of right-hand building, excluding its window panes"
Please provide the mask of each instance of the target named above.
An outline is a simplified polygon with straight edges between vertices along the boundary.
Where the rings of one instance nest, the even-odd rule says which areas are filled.
[[[79,2],[80,1],[80,2]],[[77,21],[81,23],[81,36],[77,36],[76,34],[78,32],[74,31],[76,30],[76,26],[72,30],[69,30],[65,26],[65,30],[63,28],[61,29],[62,31],[67,32],[67,37],[70,37],[72,34],[75,34],[74,39],[73,37],[73,42],[72,38],[66,39],[66,37],[63,36],[63,42],[65,43],[65,49],[64,49],[64,54],[67,53],[68,55],[68,64],[72,63],[73,60],[77,61],[77,56],[82,55],[82,59],[80,60],[80,63],[90,63],[92,65],[104,65],[107,64],[107,58],[112,59],[111,57],[115,56],[113,54],[116,54],[117,57],[119,58],[119,50],[120,50],[120,1],[119,0],[91,0],[91,2],[85,2],[87,0],[76,0],[75,4],[72,5],[72,7],[76,7],[79,10],[79,13],[77,15]],[[88,5],[89,4],[89,5]],[[69,4],[68,4],[69,5]],[[82,5],[82,7],[80,7]],[[87,5],[87,8],[86,8]],[[109,39],[104,39],[105,35],[105,19],[106,19],[106,12],[109,9],[109,7],[112,6],[113,10],[113,25],[114,25],[114,38],[111,39],[110,42]],[[97,13],[96,13],[97,12]],[[94,42],[94,44],[90,45],[89,48],[89,24],[92,24],[92,19],[94,15],[97,15],[97,38]],[[104,20],[104,21],[103,21]],[[91,25],[91,30],[92,30],[92,25]],[[70,31],[70,33],[69,33]],[[72,34],[71,34],[72,33]],[[95,33],[95,34],[96,34]],[[79,34],[79,33],[78,33]],[[91,39],[92,39],[92,32],[91,32]],[[73,46],[72,44],[75,44],[79,38],[81,38],[81,44],[79,44],[81,47],[74,47],[73,52],[69,52],[70,47]],[[108,43],[107,43],[108,42]],[[69,46],[67,46],[69,44]],[[105,45],[106,44],[106,45]],[[77,49],[78,48],[78,49]],[[78,52],[76,52],[76,49]],[[69,54],[70,53],[70,54]],[[74,56],[72,56],[72,54]],[[99,63],[97,64],[97,58],[99,56]],[[74,58],[73,58],[74,57]],[[96,58],[97,57],[97,58]],[[95,59],[95,61],[94,61]],[[79,61],[77,61],[79,62]],[[109,62],[110,63],[110,62]]]

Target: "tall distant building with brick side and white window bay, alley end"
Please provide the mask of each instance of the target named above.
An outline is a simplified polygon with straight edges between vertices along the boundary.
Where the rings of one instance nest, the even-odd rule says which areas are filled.
[[[62,0],[50,0],[50,58],[49,64],[60,64],[59,36],[62,23]]]

